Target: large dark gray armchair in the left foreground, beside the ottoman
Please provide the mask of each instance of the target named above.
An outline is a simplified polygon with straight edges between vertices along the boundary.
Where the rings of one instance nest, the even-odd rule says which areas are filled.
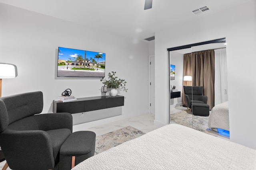
[[[72,115],[39,114],[42,109],[42,92],[0,98],[0,146],[11,169],[49,170],[58,163]]]

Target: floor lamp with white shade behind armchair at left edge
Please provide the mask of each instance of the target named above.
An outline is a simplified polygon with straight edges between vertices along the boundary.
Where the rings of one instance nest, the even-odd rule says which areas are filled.
[[[3,78],[15,78],[18,76],[17,67],[14,64],[0,63],[0,97],[2,96],[2,79]],[[0,149],[0,162],[4,161],[4,154]],[[3,169],[6,169],[8,164],[4,165]]]

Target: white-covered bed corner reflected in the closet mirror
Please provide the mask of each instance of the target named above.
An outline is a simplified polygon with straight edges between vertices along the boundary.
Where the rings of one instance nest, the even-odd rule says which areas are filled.
[[[228,102],[212,107],[208,119],[208,127],[214,131],[217,131],[217,128],[229,131]]]

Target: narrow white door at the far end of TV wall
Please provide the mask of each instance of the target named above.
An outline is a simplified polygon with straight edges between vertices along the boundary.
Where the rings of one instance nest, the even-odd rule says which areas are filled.
[[[155,56],[150,56],[150,113],[155,114]]]

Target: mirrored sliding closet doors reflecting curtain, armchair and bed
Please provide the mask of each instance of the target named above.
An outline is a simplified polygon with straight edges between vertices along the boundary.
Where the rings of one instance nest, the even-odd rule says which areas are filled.
[[[169,51],[170,63],[174,65],[180,56],[177,53],[183,58],[182,86],[178,86],[182,104],[180,100],[170,98],[170,123],[229,138],[225,43]],[[176,66],[175,74],[178,74],[177,71]],[[170,96],[173,96],[171,87],[175,84],[179,83],[170,80]]]

